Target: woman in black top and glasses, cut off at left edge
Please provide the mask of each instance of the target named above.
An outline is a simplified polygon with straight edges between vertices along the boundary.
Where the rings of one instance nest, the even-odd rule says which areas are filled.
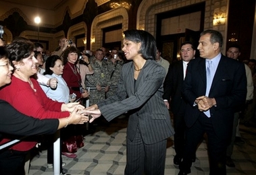
[[[0,46],[0,88],[11,83],[11,71],[14,68],[9,64],[8,51]],[[39,120],[26,116],[18,112],[9,103],[0,100],[0,139],[2,135],[39,135],[39,134],[53,134],[57,129],[67,127],[70,124],[83,124],[88,121],[87,116],[77,114],[78,108],[75,109],[68,118],[51,118]],[[47,126],[47,127],[46,127]],[[17,136],[14,136],[16,139]],[[18,137],[20,138],[20,136]],[[0,151],[0,174],[18,174],[14,169],[19,162],[16,159],[8,159],[6,156],[12,150]],[[10,157],[11,158],[11,157]],[[18,158],[22,160],[22,157]],[[19,172],[20,174],[20,172]]]

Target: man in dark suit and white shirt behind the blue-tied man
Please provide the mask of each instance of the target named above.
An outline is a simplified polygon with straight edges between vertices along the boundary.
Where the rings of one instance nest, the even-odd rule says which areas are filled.
[[[186,103],[182,99],[182,84],[186,76],[186,67],[191,59],[195,58],[195,47],[192,42],[183,42],[181,44],[180,55],[182,60],[170,65],[168,74],[165,77],[163,83],[163,100],[165,105],[171,108],[174,114],[174,149],[176,155],[174,156],[174,164],[179,165],[184,150],[185,143],[185,121],[184,121],[184,110]],[[170,104],[169,101],[170,100]],[[195,157],[193,158],[195,162]]]

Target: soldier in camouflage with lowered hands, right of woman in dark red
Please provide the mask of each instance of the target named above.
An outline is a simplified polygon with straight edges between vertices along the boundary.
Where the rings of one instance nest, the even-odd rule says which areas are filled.
[[[109,86],[111,85],[111,65],[109,61],[103,61],[103,50],[96,50],[95,58],[91,60],[91,66],[95,73],[93,75],[86,75],[86,88],[90,88],[90,106],[104,100],[105,92],[109,91]],[[92,88],[95,88],[95,90],[92,90]]]

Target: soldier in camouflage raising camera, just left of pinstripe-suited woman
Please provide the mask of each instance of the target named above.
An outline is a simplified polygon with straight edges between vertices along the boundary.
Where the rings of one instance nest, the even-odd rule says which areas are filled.
[[[113,48],[113,50],[111,50],[111,59],[109,60],[109,63],[111,65],[111,71],[110,71],[111,87],[118,86],[122,66],[124,64],[122,55],[118,54],[118,49]],[[117,88],[110,88],[109,92],[107,92],[107,98],[116,94],[116,90]]]

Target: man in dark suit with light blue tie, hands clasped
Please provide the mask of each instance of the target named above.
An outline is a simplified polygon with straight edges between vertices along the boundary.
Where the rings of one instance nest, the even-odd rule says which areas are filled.
[[[188,64],[182,94],[186,105],[186,145],[180,174],[190,173],[193,153],[207,133],[210,174],[226,174],[234,108],[245,102],[245,66],[221,54],[222,34],[205,30],[199,39],[199,59]]]

